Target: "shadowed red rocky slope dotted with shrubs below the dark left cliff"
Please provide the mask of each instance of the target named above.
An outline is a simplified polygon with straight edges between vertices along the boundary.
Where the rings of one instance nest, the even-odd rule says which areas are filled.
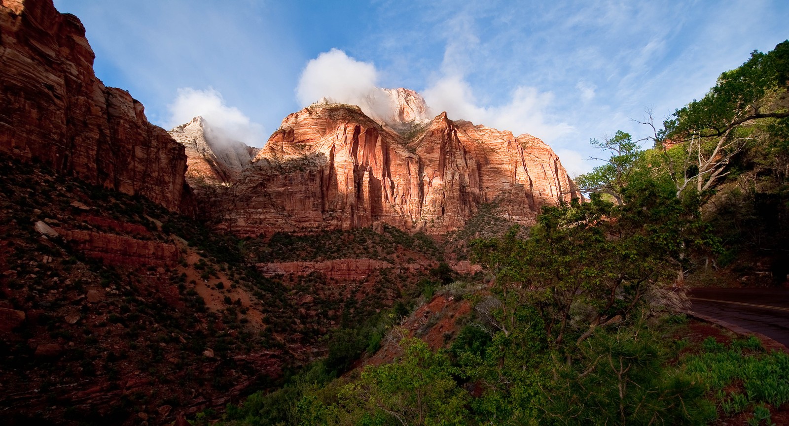
[[[314,344],[195,220],[8,157],[0,176],[0,424],[171,424]]]

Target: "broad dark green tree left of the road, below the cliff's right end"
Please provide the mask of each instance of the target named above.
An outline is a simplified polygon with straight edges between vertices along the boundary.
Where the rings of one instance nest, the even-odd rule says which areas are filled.
[[[496,274],[502,312],[495,327],[509,334],[518,307],[533,306],[548,345],[558,348],[568,332],[580,342],[650,298],[671,297],[671,271],[686,250],[709,243],[705,232],[697,206],[636,180],[624,187],[621,206],[593,194],[589,202],[544,208],[528,239],[513,230],[473,246]]]

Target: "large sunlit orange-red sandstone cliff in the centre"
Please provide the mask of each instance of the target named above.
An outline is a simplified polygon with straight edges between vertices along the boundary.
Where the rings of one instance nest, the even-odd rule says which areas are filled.
[[[445,113],[394,132],[361,109],[314,104],[282,121],[231,189],[225,224],[241,235],[387,223],[441,234],[486,202],[533,224],[578,196],[553,151]]]

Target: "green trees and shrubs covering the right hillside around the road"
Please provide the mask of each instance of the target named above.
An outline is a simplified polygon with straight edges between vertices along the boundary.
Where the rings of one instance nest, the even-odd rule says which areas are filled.
[[[623,132],[597,142],[611,156],[579,179],[588,203],[544,209],[528,235],[475,240],[492,287],[466,295],[476,317],[450,349],[402,339],[391,364],[299,376],[276,400],[286,417],[259,394],[224,423],[772,424],[789,357],[756,339],[689,348],[672,286],[736,262],[742,243],[773,265],[785,256],[787,54],[789,42],[754,52],[664,128],[645,121],[652,150]],[[778,237],[753,226],[765,219]]]

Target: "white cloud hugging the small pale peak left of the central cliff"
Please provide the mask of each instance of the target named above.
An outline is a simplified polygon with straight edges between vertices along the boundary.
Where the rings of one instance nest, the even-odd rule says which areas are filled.
[[[215,143],[240,141],[249,146],[263,146],[264,129],[249,120],[241,110],[227,106],[222,94],[212,88],[205,90],[181,87],[178,96],[168,106],[170,128],[188,123],[193,117],[205,119]]]

